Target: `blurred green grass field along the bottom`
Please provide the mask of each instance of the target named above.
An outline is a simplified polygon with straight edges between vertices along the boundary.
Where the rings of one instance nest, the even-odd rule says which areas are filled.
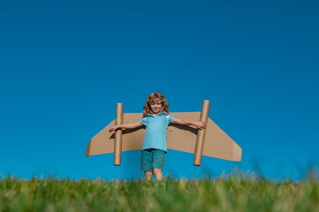
[[[319,181],[238,176],[163,181],[0,180],[0,211],[319,211]]]

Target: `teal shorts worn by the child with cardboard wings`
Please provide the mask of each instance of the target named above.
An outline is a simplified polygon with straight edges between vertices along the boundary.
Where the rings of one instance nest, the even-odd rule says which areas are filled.
[[[141,171],[153,171],[164,167],[165,151],[162,149],[148,148],[141,150]]]

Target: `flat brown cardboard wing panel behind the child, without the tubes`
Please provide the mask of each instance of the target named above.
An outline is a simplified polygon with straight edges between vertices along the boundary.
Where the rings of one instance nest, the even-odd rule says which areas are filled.
[[[173,112],[170,115],[189,120],[200,118],[200,112]],[[138,122],[141,118],[142,113],[123,113],[123,124]],[[87,157],[114,153],[115,133],[109,132],[113,126],[115,119],[90,140],[86,149]],[[195,127],[172,124],[167,130],[167,147],[194,154],[197,134],[198,129]],[[145,127],[123,130],[122,152],[141,149],[144,135]],[[228,161],[241,161],[242,148],[208,117],[202,155]]]

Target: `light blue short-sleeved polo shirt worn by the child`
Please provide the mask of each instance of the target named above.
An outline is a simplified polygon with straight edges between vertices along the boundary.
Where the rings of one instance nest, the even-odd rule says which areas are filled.
[[[168,124],[174,119],[169,115]],[[142,125],[146,126],[145,137],[142,143],[142,149],[157,148],[167,152],[166,134],[167,134],[167,114],[158,113],[153,116],[147,114],[140,120]]]

